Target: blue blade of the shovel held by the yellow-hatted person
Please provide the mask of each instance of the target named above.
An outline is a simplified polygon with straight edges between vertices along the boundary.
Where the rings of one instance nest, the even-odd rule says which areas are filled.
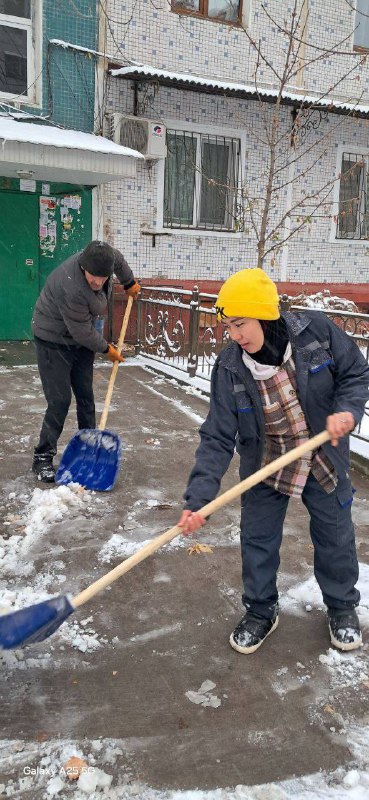
[[[51,597],[20,611],[0,616],[0,650],[12,650],[33,642],[43,642],[73,614],[66,595]]]

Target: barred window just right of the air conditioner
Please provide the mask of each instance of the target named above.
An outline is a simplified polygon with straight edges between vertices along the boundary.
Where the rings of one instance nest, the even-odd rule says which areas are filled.
[[[240,140],[167,130],[164,227],[235,230]]]

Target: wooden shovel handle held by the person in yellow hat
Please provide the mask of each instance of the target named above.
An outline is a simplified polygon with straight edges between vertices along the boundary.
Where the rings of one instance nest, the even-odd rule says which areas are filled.
[[[300,458],[301,456],[305,455],[305,453],[309,453],[311,450],[316,450],[320,447],[324,442],[328,442],[330,439],[329,433],[327,431],[322,431],[318,433],[317,436],[313,436],[312,439],[309,439],[307,442],[300,444],[298,447],[295,447],[293,450],[289,450],[288,453],[285,453],[283,456],[276,458],[275,461],[271,461],[270,464],[266,464],[265,467],[262,467],[257,472],[254,472],[253,475],[250,475],[248,478],[245,478],[244,481],[237,483],[236,486],[232,486],[231,489],[228,489],[223,494],[220,494],[219,497],[216,497],[215,500],[212,500],[211,503],[207,503],[206,506],[203,506],[199,509],[199,513],[203,517],[209,517],[210,514],[213,514],[214,511],[217,511],[219,508],[222,508],[227,503],[230,503],[231,500],[235,500],[236,497],[239,497],[243,492],[246,492],[248,489],[251,489],[253,486],[256,486],[257,483],[261,483],[261,481],[268,478],[269,475],[273,475],[274,472],[278,472],[282,467],[286,467],[287,464],[291,464],[292,461],[296,461],[296,459]],[[129,572],[132,567],[135,567],[136,564],[139,564],[140,561],[143,561],[148,556],[151,556],[152,553],[155,553],[156,550],[159,550],[163,544],[167,544],[172,539],[175,539],[178,534],[182,533],[182,529],[178,527],[178,525],[174,525],[173,528],[169,528],[168,531],[165,533],[160,534],[160,536],[156,536],[152,542],[149,542],[144,547],[141,547],[137,553],[134,553],[133,556],[130,556],[125,561],[122,561],[121,564],[118,564],[117,567],[107,572],[106,575],[103,575],[102,578],[99,578],[97,581],[88,586],[87,589],[84,589],[80,594],[73,598],[72,604],[75,608],[78,606],[82,606],[83,603],[86,603],[87,600],[90,600],[91,597],[94,597],[97,592],[100,592],[102,589],[105,589],[106,586],[110,586],[117,578],[120,578],[121,575],[124,575],[125,572]]]

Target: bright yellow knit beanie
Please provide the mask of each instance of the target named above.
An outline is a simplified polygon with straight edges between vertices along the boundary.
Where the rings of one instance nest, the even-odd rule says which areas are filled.
[[[241,269],[223,283],[215,304],[218,319],[279,319],[277,287],[264,270]]]

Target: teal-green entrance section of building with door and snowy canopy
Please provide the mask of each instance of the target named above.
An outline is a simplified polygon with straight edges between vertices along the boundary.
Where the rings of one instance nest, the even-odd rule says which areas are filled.
[[[100,187],[135,159],[95,135],[99,4],[0,6],[0,339],[28,339],[47,275],[101,234]]]

